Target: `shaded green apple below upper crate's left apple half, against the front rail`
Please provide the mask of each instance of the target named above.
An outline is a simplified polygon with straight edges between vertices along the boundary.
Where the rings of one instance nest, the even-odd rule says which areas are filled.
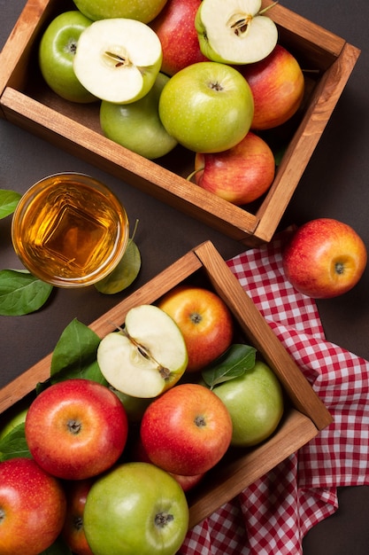
[[[148,94],[130,104],[103,100],[100,124],[105,137],[150,160],[172,151],[177,141],[166,132],[158,114],[161,91],[168,81],[167,75],[159,73]]]

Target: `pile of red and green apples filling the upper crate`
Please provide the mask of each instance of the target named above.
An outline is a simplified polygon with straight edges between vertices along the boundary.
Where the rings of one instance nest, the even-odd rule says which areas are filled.
[[[181,145],[197,185],[235,205],[273,183],[262,137],[304,98],[304,74],[261,0],[74,0],[44,31],[45,81],[100,102],[106,137],[150,160]]]

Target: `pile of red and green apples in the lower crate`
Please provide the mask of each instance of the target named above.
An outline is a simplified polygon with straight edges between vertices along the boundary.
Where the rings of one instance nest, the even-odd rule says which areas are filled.
[[[201,379],[233,341],[218,294],[177,286],[99,342],[108,385],[64,379],[22,407],[30,457],[0,463],[2,555],[38,555],[60,538],[76,555],[174,555],[188,490],[231,446],[273,434],[283,414],[263,362],[216,387]]]

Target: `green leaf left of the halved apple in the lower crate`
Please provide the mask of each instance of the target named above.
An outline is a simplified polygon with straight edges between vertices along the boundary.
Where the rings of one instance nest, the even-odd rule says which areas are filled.
[[[93,379],[106,384],[96,361],[100,338],[87,325],[74,318],[65,327],[51,357],[50,380]]]

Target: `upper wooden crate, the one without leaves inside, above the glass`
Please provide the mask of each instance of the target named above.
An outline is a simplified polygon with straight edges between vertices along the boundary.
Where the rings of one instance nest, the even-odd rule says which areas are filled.
[[[263,2],[269,4],[272,0]],[[47,88],[35,61],[37,45],[48,22],[73,7],[68,0],[28,0],[0,56],[0,114],[230,238],[248,246],[269,241],[350,77],[358,49],[280,4],[268,12],[281,44],[306,70],[306,98],[292,120],[271,189],[252,206],[235,207],[188,182],[193,152],[177,147],[160,160],[145,160],[103,137],[96,105],[74,105]]]

